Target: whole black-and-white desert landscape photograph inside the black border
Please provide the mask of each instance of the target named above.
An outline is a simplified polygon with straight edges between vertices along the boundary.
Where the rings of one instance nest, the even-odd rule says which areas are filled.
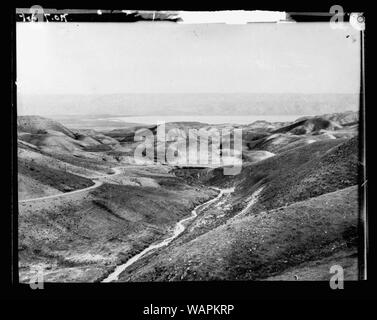
[[[328,9],[17,9],[19,283],[366,280],[365,21]]]

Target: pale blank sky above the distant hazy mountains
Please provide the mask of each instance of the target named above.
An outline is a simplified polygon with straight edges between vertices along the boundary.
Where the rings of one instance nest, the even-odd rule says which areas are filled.
[[[17,84],[25,94],[357,93],[359,50],[358,31],[328,23],[18,23]]]

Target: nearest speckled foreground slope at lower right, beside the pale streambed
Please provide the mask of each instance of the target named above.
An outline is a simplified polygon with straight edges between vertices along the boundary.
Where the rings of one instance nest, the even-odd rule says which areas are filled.
[[[357,199],[357,187],[350,187],[230,220],[180,247],[140,261],[121,280],[256,280],[304,261],[355,252]],[[326,275],[328,270],[322,274]]]

